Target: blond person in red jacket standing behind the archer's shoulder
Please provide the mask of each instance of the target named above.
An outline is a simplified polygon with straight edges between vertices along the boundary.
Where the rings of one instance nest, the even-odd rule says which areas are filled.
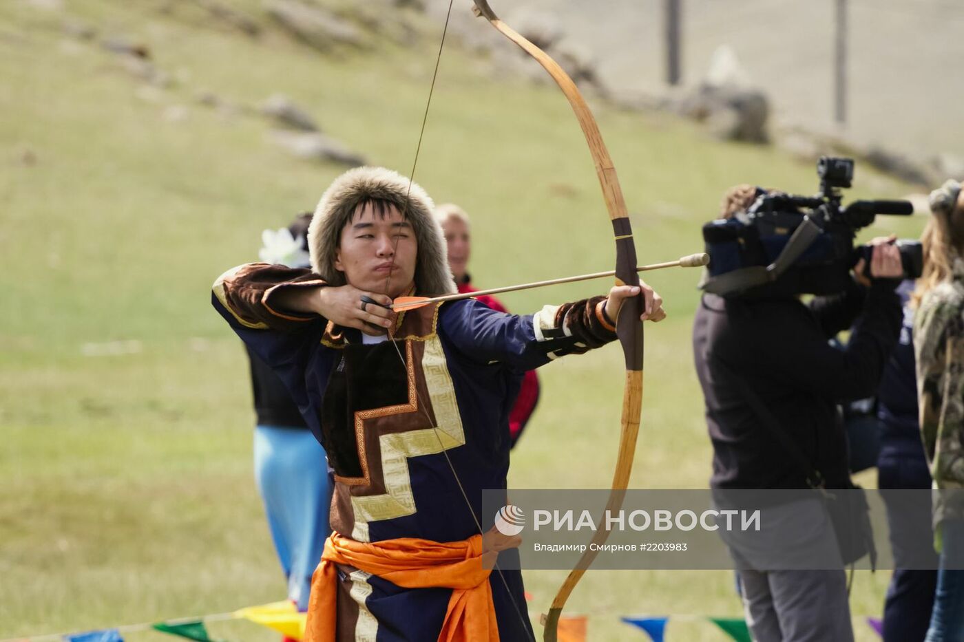
[[[469,234],[469,215],[465,210],[453,203],[439,205],[435,210],[436,218],[442,224],[445,232],[445,243],[448,246],[448,267],[452,270],[455,285],[459,292],[476,292],[478,288],[472,286],[469,277],[469,254],[471,254],[471,236]],[[509,310],[493,296],[483,294],[477,299],[499,312]],[[509,434],[512,437],[512,447],[519,441],[525,424],[532,417],[536,404],[539,402],[539,377],[535,370],[529,370],[522,377],[522,388],[519,396],[509,413]]]

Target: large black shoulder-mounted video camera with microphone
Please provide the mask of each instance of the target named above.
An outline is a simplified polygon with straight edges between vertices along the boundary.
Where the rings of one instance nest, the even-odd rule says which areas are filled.
[[[841,189],[853,180],[853,160],[823,156],[817,161],[820,193],[805,197],[757,188],[745,212],[703,227],[710,278],[701,287],[723,296],[796,295],[841,292],[850,269],[863,257],[870,274],[870,246],[854,247],[857,230],[877,214],[907,216],[910,201],[853,201],[842,206]],[[898,240],[905,279],[921,276],[918,241]]]

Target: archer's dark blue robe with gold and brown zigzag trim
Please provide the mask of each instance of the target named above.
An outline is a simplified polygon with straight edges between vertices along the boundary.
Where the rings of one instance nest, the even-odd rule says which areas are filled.
[[[482,491],[506,488],[522,374],[615,338],[602,297],[524,316],[470,299],[426,306],[401,313],[388,340],[273,305],[282,288],[320,284],[307,270],[253,264],[219,279],[212,300],[291,391],[335,471],[332,528],[362,542],[489,530]],[[438,636],[451,589],[401,588],[351,567],[339,578],[338,639]],[[500,639],[534,639],[522,575],[496,570],[490,583]]]

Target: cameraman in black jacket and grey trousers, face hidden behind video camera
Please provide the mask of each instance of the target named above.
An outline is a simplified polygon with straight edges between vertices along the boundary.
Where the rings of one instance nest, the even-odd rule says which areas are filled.
[[[756,196],[756,189],[748,185],[732,189],[724,201],[723,218],[744,211]],[[900,330],[900,303],[894,290],[902,266],[889,240],[874,241],[874,278],[869,286],[851,281],[844,292],[817,297],[809,305],[795,296],[767,294],[759,288],[739,297],[703,296],[693,324],[693,351],[713,444],[713,489],[808,488],[807,471],[794,465],[794,453],[754,412],[744,386],[776,418],[826,488],[848,486],[837,404],[875,392]],[[855,271],[863,268],[859,262]],[[827,343],[851,325],[845,350]],[[788,553],[811,546],[817,533],[829,528],[791,523],[799,522],[799,515],[775,524],[797,538],[781,541],[781,550]],[[730,544],[739,559],[739,551]],[[853,639],[843,570],[741,568],[740,576],[746,620],[756,640]]]

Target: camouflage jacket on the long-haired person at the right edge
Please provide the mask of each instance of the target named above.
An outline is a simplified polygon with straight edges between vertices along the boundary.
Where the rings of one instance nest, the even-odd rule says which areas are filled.
[[[914,317],[921,433],[936,489],[964,489],[964,259],[926,295]],[[935,496],[934,523],[964,519],[962,493]]]

